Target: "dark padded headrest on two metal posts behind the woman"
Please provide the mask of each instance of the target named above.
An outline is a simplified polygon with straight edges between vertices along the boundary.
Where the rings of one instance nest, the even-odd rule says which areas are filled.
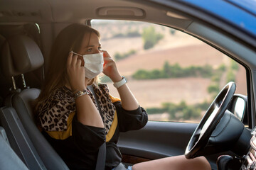
[[[1,48],[1,69],[6,77],[24,74],[43,65],[43,55],[31,38],[15,35],[6,38]]]

